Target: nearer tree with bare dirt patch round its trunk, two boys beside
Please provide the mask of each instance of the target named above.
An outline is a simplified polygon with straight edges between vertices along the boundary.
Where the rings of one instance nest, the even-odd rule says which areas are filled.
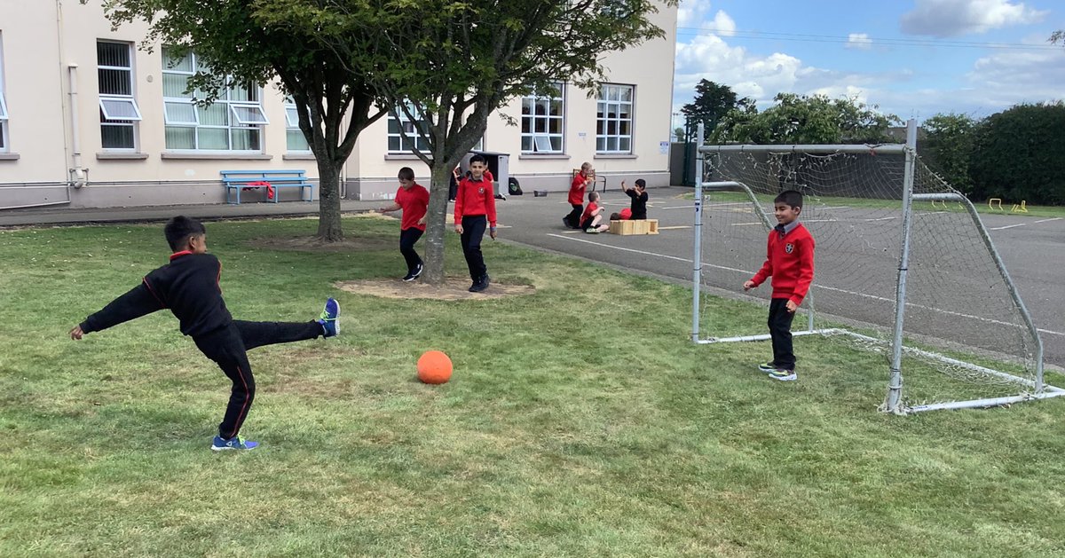
[[[427,146],[414,153],[431,174],[423,279],[444,280],[447,185],[452,169],[484,135],[488,117],[515,96],[566,81],[595,91],[602,54],[665,35],[649,21],[656,4],[676,0],[260,0],[293,4],[272,18],[311,12],[329,26],[306,29],[340,52],[354,76],[413,122]],[[362,7],[376,10],[362,17]],[[337,24],[332,24],[337,23]],[[381,30],[388,30],[382,33]],[[361,37],[376,33],[387,64],[367,65]],[[374,62],[371,60],[371,62]],[[405,132],[402,132],[405,133]],[[503,185],[506,187],[506,184]]]

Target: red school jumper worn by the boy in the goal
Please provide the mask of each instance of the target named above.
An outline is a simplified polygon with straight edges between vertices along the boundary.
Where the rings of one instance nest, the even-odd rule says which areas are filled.
[[[775,229],[769,231],[766,263],[754,274],[754,286],[773,278],[773,298],[787,298],[799,306],[814,281],[814,237],[802,224],[784,237]]]

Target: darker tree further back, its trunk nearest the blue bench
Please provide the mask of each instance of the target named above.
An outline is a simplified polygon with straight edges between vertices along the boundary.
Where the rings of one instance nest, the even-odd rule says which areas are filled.
[[[82,0],[83,2],[86,0]],[[324,241],[339,241],[344,231],[340,218],[340,169],[359,132],[386,114],[388,101],[378,96],[364,76],[346,71],[348,61],[314,35],[291,22],[271,22],[264,6],[298,0],[105,0],[113,26],[143,19],[151,26],[147,48],[162,44],[178,53],[193,51],[211,68],[189,81],[189,92],[207,93],[198,99],[209,104],[227,86],[279,80],[292,96],[299,115],[299,129],[307,137],[318,167],[318,231]],[[295,17],[308,18],[304,12]],[[363,17],[370,17],[365,12]],[[328,18],[308,26],[327,27]],[[374,59],[373,37],[351,35],[353,48],[364,59]],[[346,126],[346,128],[345,128]]]

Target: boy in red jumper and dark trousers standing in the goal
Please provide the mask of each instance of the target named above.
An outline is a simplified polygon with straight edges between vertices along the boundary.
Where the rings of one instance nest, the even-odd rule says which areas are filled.
[[[750,291],[769,277],[773,278],[773,298],[769,303],[769,337],[773,342],[773,360],[759,364],[769,377],[792,381],[796,356],[791,350],[791,319],[814,281],[814,237],[799,223],[802,194],[793,190],[782,192],[773,200],[776,227],[769,231],[766,263],[743,283]]]

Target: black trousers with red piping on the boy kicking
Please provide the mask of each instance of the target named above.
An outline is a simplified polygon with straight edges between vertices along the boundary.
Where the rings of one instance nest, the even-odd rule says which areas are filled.
[[[228,327],[195,338],[200,351],[213,360],[233,382],[226,414],[218,425],[218,436],[226,439],[236,436],[256,398],[256,378],[251,374],[251,364],[248,363],[248,350],[263,345],[314,339],[322,334],[322,324],[315,321],[292,323],[234,319]]]

